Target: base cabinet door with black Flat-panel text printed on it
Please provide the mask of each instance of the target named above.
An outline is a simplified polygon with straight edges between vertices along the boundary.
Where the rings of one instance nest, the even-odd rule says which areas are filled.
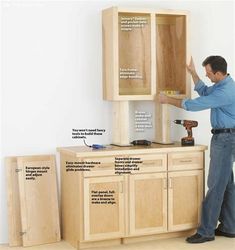
[[[84,240],[124,235],[123,176],[84,179]]]

